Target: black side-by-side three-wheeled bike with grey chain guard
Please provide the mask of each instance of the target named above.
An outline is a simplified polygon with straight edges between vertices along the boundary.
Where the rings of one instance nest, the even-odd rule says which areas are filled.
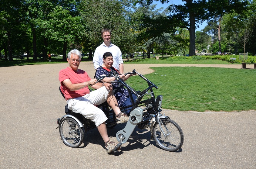
[[[135,69],[129,73],[139,75],[148,83],[148,87],[143,91],[136,91],[122,80],[117,72],[114,70],[110,72],[111,76],[115,77],[115,81],[111,83],[120,83],[123,85],[128,89],[129,97],[132,98],[132,93],[137,96],[135,101],[131,99],[132,105],[120,107],[121,111],[125,108],[131,108],[131,111],[129,113],[129,120],[124,129],[118,131],[116,134],[118,142],[121,144],[127,142],[137,126],[139,129],[150,128],[151,139],[154,138],[160,148],[171,152],[177,151],[183,144],[183,132],[175,121],[162,114],[161,105],[163,96],[159,95],[155,97],[153,92],[153,88],[158,89],[158,87]],[[125,75],[127,74],[128,73],[125,73]],[[97,79],[100,81],[104,77],[105,76],[100,76],[97,77]],[[62,92],[61,94],[63,95]],[[106,121],[107,128],[115,127],[115,125],[117,125],[115,113],[108,106],[107,102],[98,105],[98,107],[104,111],[108,118]],[[96,128],[96,125],[82,114],[70,111],[68,105],[65,106],[65,114],[66,115],[63,117],[57,119],[57,128],[59,128],[60,137],[65,145],[77,148],[82,144],[85,133]]]

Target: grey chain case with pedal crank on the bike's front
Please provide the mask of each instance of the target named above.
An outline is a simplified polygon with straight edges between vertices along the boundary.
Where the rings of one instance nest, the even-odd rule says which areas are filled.
[[[127,142],[132,132],[134,131],[134,128],[136,127],[136,125],[140,123],[142,120],[143,120],[142,108],[137,107],[134,110],[132,110],[129,116],[129,120],[125,125],[124,129],[118,131],[116,134],[117,141],[118,142],[122,141],[122,144]]]

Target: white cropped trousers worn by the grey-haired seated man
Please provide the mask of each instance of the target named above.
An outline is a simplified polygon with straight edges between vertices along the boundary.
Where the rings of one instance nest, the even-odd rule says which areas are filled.
[[[75,113],[82,114],[85,118],[91,119],[98,127],[108,118],[104,112],[96,106],[107,100],[108,93],[109,90],[107,90],[106,87],[101,87],[84,96],[67,100],[68,108]]]

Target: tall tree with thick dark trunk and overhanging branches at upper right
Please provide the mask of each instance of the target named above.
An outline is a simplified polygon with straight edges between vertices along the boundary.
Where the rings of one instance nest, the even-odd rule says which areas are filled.
[[[152,4],[153,0],[147,0]],[[168,3],[169,0],[156,0],[161,3]],[[240,0],[181,0],[183,5],[168,7],[169,20],[177,27],[189,30],[189,56],[195,55],[195,29],[196,24],[209,20],[213,16],[231,13],[233,9],[243,10],[247,1]]]

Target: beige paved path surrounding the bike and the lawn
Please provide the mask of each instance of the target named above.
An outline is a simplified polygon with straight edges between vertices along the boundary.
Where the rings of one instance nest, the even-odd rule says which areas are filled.
[[[138,128],[115,155],[107,155],[96,129],[85,134],[81,148],[65,146],[56,119],[64,115],[66,104],[58,91],[58,71],[67,66],[0,68],[0,168],[256,168],[256,111],[164,110],[184,132],[182,150],[175,153],[158,148],[150,132]],[[125,72],[135,68],[151,73],[150,66],[157,65],[126,64]],[[91,62],[82,62],[80,68],[94,76]],[[115,140],[124,126],[109,129],[109,136]]]

